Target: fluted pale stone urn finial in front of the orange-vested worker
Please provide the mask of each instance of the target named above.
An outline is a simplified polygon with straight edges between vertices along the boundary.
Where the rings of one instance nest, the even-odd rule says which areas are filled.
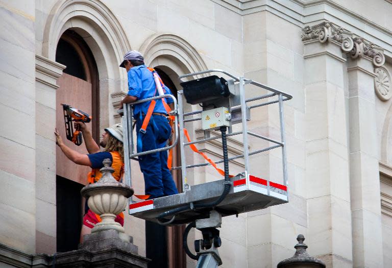
[[[102,222],[96,224],[91,233],[111,229],[124,233],[124,228],[114,220],[116,215],[126,209],[127,199],[132,196],[133,189],[113,178],[114,169],[110,159],[105,159],[103,164],[104,167],[100,169],[101,179],[80,191],[83,197],[88,198],[88,206],[92,212],[102,218]]]

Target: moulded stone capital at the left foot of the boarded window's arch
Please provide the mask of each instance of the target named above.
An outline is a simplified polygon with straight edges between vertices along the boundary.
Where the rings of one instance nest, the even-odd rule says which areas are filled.
[[[35,80],[53,87],[59,88],[56,81],[63,74],[66,66],[45,57],[35,55]]]

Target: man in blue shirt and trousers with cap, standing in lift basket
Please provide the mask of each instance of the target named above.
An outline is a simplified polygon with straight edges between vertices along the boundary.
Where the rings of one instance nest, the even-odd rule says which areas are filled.
[[[129,51],[125,54],[120,67],[127,69],[129,89],[128,95],[120,102],[121,108],[124,103],[133,103],[159,95],[153,72],[144,65],[144,58],[139,52]],[[164,89],[165,93],[171,94],[169,88],[165,86]],[[166,102],[171,103],[173,100],[166,98]],[[161,99],[156,102],[145,132],[140,131],[150,103],[145,102],[135,105],[133,109],[138,136],[138,152],[165,147],[171,134],[171,127],[168,124],[167,113]],[[176,184],[167,167],[167,151],[139,156],[139,165],[144,176],[145,194],[149,194],[150,199],[178,193]]]

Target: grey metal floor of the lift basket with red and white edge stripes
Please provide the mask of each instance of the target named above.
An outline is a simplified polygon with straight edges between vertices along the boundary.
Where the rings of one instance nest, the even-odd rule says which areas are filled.
[[[281,184],[267,182],[266,180],[250,176],[249,183],[241,176],[230,179],[233,185],[227,197],[216,206],[222,216],[235,215],[243,212],[267,208],[288,202],[287,188]],[[175,209],[190,203],[209,203],[222,194],[224,180],[207,182],[191,186],[186,192],[173,196],[156,198],[130,204],[129,213],[143,220],[157,222],[157,217],[170,209]],[[211,208],[199,210],[187,209],[176,215],[174,224],[191,222],[196,218],[209,216]],[[170,220],[170,216],[166,220]]]

